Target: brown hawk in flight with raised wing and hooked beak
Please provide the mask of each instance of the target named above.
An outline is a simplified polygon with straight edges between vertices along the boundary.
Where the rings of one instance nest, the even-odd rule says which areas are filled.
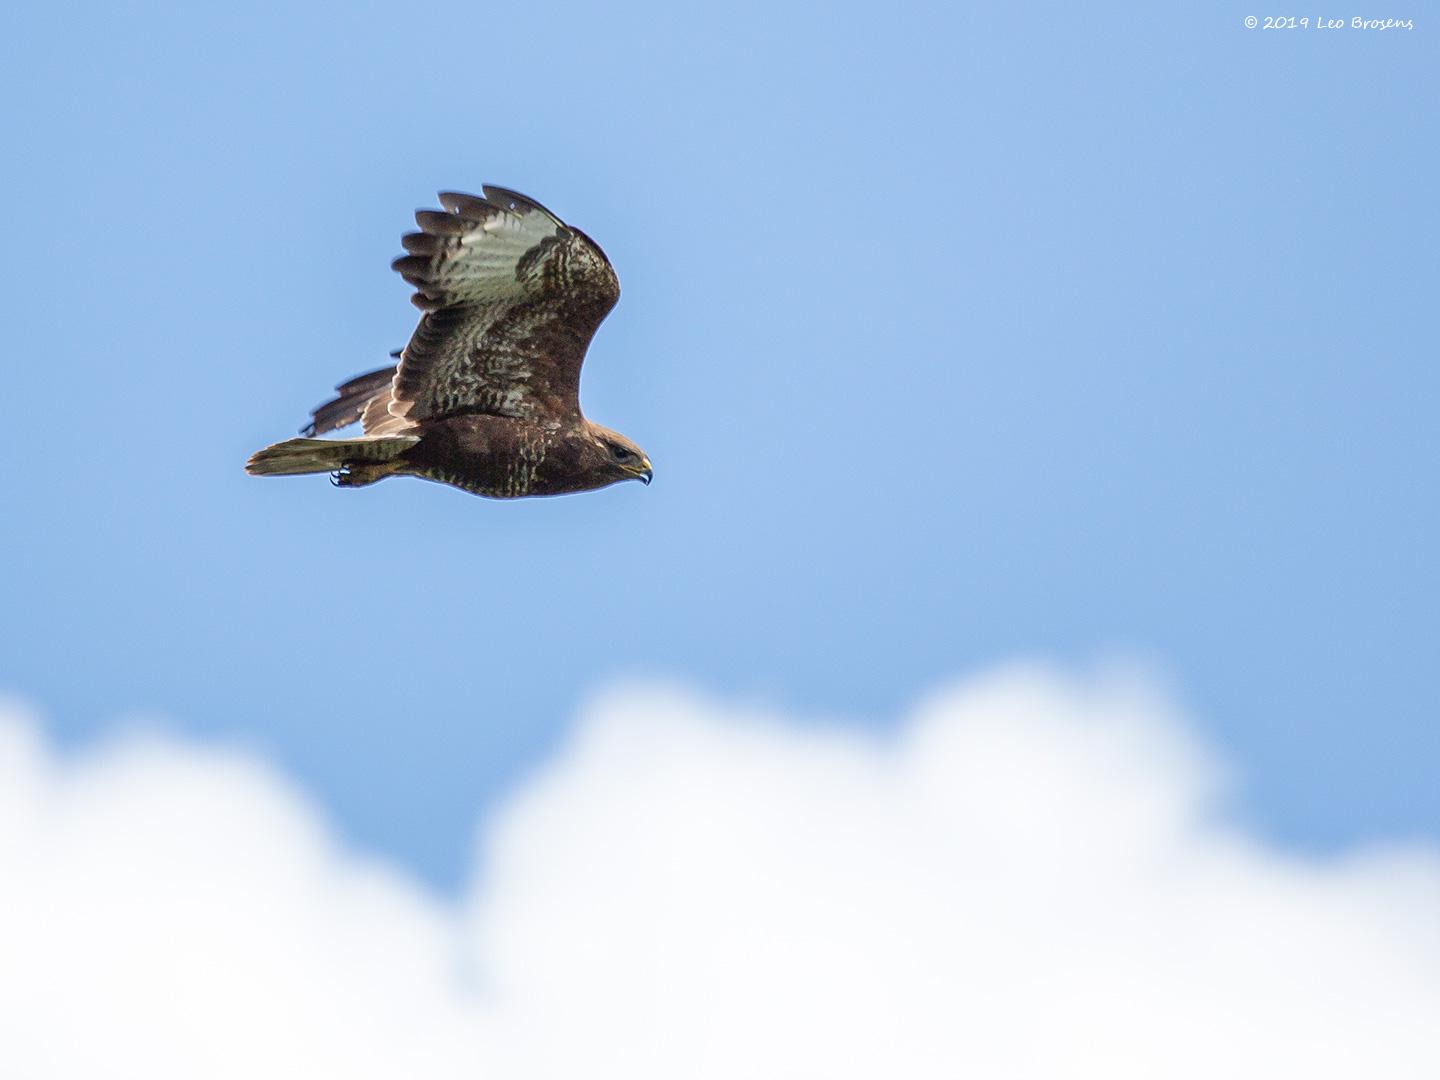
[[[580,364],[621,285],[605,252],[503,187],[442,192],[392,265],[423,312],[395,367],[356,376],[301,431],[255,454],[256,477],[330,472],[338,487],[420,477],[490,498],[649,484],[649,458],[580,413]],[[317,435],[360,420],[364,435]]]

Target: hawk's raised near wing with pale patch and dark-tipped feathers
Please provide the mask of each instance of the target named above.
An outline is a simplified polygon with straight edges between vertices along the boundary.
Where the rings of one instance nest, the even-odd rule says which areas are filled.
[[[539,203],[503,187],[444,192],[420,210],[393,266],[425,314],[367,432],[454,413],[540,422],[579,415],[580,364],[621,287],[605,252]]]

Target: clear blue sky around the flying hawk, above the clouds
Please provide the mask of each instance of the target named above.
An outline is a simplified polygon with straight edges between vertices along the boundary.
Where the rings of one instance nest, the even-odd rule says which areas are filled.
[[[886,727],[1015,657],[1156,665],[1289,845],[1440,838],[1433,30],[1248,13],[10,16],[0,685],[442,886],[615,680]],[[618,266],[655,484],[246,478],[482,183]]]

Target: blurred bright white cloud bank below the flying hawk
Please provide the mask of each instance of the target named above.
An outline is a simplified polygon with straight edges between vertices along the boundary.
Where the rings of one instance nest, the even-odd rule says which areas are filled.
[[[259,762],[0,719],[0,1076],[1434,1077],[1440,857],[1306,861],[1133,681],[894,737],[634,688],[459,903]]]

